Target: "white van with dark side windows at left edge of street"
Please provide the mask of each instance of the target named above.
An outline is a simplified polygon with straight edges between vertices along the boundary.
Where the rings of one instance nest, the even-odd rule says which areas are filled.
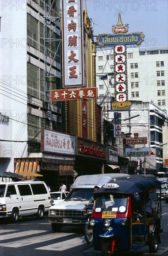
[[[50,199],[45,182],[1,182],[0,218],[11,217],[17,222],[21,216],[36,215],[42,219],[51,207]]]

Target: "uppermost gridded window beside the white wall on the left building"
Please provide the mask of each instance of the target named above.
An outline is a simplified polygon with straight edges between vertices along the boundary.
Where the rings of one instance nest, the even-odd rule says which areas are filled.
[[[27,43],[38,49],[38,20],[27,13]]]

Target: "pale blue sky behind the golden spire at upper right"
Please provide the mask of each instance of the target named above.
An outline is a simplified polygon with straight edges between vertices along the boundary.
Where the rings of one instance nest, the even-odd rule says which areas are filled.
[[[113,34],[112,25],[121,13],[129,31],[145,34],[141,47],[168,46],[168,0],[86,0],[87,13],[94,21],[94,35]],[[84,10],[85,10],[85,3]],[[96,40],[96,39],[95,39]]]

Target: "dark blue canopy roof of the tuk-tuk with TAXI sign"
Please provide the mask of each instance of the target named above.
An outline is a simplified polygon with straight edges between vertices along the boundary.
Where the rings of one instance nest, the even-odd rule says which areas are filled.
[[[122,194],[134,194],[143,191],[148,191],[151,189],[156,189],[161,187],[161,182],[156,179],[150,178],[132,178],[127,180],[117,180],[115,182],[111,182],[112,184],[116,184],[114,187],[104,188],[102,186],[93,194],[104,194],[104,193],[122,193]]]

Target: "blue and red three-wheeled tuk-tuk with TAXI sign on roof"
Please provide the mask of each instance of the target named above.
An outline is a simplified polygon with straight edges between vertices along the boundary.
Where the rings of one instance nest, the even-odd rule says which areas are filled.
[[[90,225],[93,227],[93,247],[102,256],[116,251],[129,251],[140,245],[149,245],[155,253],[161,243],[161,202],[155,202],[155,213],[147,216],[136,209],[137,193],[153,191],[161,182],[151,178],[132,178],[104,184],[94,193]]]

